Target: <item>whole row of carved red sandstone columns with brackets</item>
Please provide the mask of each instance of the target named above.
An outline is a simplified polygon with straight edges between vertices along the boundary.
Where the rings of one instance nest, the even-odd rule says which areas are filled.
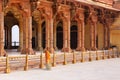
[[[1,0],[0,0],[1,1]],[[1,4],[1,2],[0,2]],[[15,4],[15,3],[14,3]],[[29,4],[29,3],[27,3]],[[1,4],[2,5],[2,4]],[[26,4],[25,4],[26,5]],[[24,6],[25,6],[24,5]],[[4,50],[4,35],[5,41],[7,43],[11,42],[11,30],[9,28],[5,28],[4,34],[4,16],[12,12],[14,17],[18,19],[19,28],[20,28],[20,46],[19,51],[22,54],[35,54],[32,49],[32,21],[33,19],[37,22],[37,50],[43,50],[42,46],[42,23],[45,21],[45,50],[48,49],[50,52],[53,52],[57,49],[57,24],[62,21],[62,28],[63,28],[63,48],[62,51],[70,52],[70,27],[71,27],[71,13],[70,13],[70,6],[65,4],[60,4],[60,8],[56,14],[53,13],[52,9],[52,2],[49,1],[41,1],[37,5],[37,9],[34,12],[30,10],[29,6],[25,6],[23,10],[19,10],[17,6],[13,6],[12,4],[9,5],[8,8],[5,9],[6,12],[3,12],[0,9],[0,55],[5,54]],[[2,7],[2,6],[0,6]],[[78,51],[84,51],[85,47],[85,9],[84,8],[77,8],[73,17],[73,20],[77,22],[77,48]],[[4,15],[5,13],[5,15]],[[32,14],[31,14],[32,13]],[[97,15],[94,15],[94,9],[91,11],[92,15],[89,15],[88,22],[90,23],[90,48],[91,50],[96,50],[96,36],[97,34],[97,23],[99,22]],[[6,23],[5,23],[6,24]],[[109,48],[110,45],[110,33],[109,33],[109,25],[104,24],[104,48]],[[7,46],[8,48],[10,46]]]

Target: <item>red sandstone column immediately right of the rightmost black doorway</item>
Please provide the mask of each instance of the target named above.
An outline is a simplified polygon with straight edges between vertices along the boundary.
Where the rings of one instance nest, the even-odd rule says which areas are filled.
[[[78,51],[84,51],[84,9],[78,8],[76,10],[76,16],[75,19],[78,23],[78,45],[77,49]]]

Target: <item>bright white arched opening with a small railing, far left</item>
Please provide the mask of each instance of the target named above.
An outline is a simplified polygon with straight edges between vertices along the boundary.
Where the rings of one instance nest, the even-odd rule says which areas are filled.
[[[17,49],[19,47],[19,26],[12,26],[12,49]]]

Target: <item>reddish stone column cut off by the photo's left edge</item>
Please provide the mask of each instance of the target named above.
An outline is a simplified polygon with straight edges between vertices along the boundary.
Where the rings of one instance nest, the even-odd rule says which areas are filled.
[[[5,55],[6,51],[4,50],[4,13],[0,10],[0,56]]]

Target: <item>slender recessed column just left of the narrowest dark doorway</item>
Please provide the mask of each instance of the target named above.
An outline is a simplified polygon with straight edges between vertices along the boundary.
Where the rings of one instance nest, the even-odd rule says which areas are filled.
[[[38,22],[38,47],[37,50],[43,50],[42,48],[42,26],[41,26],[41,20]]]

